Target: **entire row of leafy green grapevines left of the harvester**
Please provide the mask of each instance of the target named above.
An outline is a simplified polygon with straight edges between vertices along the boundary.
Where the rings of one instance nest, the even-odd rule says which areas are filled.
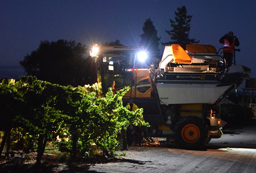
[[[70,152],[72,159],[89,156],[93,144],[113,156],[121,129],[129,124],[149,125],[143,121],[142,109],[129,111],[128,106],[123,107],[122,96],[128,87],[97,97],[98,87],[60,86],[32,76],[20,77],[17,82],[3,80],[0,98],[9,100],[1,102],[4,112],[0,115],[0,130],[7,127],[3,124],[12,122],[8,127],[17,139],[16,147],[26,152],[38,147],[39,163],[48,143]]]

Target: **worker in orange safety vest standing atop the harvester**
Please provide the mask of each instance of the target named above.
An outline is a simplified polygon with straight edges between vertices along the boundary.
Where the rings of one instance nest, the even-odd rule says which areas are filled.
[[[223,58],[227,63],[227,68],[232,65],[233,54],[235,52],[235,46],[239,46],[239,40],[232,31],[225,34],[219,40],[221,44],[223,44]]]

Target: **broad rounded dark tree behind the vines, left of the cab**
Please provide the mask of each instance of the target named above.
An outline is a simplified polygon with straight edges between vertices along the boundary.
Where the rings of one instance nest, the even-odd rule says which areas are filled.
[[[20,65],[27,75],[61,85],[84,85],[93,83],[90,58],[86,47],[75,41],[41,41],[37,50],[26,55]]]

